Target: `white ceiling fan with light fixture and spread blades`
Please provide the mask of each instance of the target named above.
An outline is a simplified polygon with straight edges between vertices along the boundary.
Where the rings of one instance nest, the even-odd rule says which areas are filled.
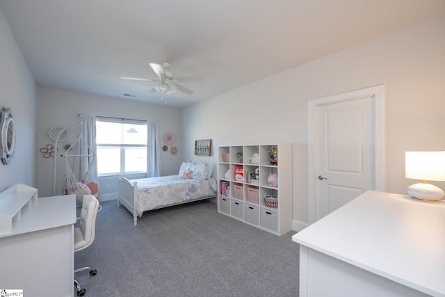
[[[136,77],[120,77],[121,79],[130,79],[133,81],[152,81],[157,83],[150,93],[159,92],[161,93],[161,99],[163,99],[163,95],[169,95],[175,93],[177,90],[179,92],[185,93],[187,95],[193,94],[193,90],[186,88],[184,86],[179,85],[178,83],[192,83],[197,81],[204,81],[204,77],[202,75],[192,75],[189,77],[178,77],[175,79],[175,75],[168,70],[170,67],[170,63],[163,62],[161,65],[156,63],[149,63],[152,70],[157,75],[157,79],[139,79]]]

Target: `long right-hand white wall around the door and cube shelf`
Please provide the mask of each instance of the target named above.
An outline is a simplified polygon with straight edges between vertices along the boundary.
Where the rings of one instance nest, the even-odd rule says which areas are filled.
[[[293,220],[307,223],[307,101],[384,84],[386,191],[406,193],[405,151],[445,150],[445,15],[243,86],[182,110],[193,141],[294,143]],[[201,157],[201,159],[204,157]],[[216,154],[207,161],[217,161]],[[445,188],[444,182],[433,182]]]

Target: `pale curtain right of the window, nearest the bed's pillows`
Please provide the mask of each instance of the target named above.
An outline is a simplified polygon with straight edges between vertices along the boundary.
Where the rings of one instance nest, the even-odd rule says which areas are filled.
[[[157,122],[147,122],[147,177],[161,175],[161,152]]]

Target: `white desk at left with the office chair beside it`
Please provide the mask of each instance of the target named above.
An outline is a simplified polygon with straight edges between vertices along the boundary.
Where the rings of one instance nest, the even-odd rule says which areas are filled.
[[[15,194],[2,193],[2,200]],[[30,201],[13,219],[12,231],[0,234],[0,289],[23,289],[24,296],[74,296],[75,195]]]

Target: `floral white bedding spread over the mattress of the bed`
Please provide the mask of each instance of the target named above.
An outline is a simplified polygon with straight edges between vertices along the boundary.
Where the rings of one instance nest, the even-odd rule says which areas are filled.
[[[179,204],[195,199],[214,197],[216,179],[181,179],[179,175],[132,179],[138,184],[138,200],[135,211],[142,216],[144,211]]]

